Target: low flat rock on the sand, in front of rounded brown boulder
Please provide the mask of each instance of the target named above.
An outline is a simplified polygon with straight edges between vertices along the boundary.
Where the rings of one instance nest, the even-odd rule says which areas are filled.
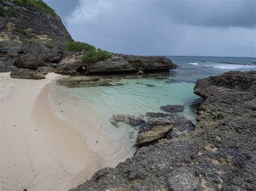
[[[14,69],[12,70],[10,76],[12,78],[18,78],[18,79],[34,79],[34,80],[45,79],[45,75],[43,73],[36,72],[35,70],[28,70],[28,69]]]

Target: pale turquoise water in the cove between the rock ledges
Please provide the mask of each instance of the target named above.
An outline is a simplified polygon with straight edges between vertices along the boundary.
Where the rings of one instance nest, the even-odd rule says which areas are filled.
[[[166,79],[123,79],[123,86],[85,87],[72,89],[76,96],[84,98],[105,111],[105,116],[130,114],[139,116],[145,112],[163,112],[160,106],[181,104],[183,115],[194,119],[190,104],[199,98],[193,94],[194,83],[166,83]],[[147,86],[148,85],[148,86]],[[153,85],[153,86],[151,86]]]

